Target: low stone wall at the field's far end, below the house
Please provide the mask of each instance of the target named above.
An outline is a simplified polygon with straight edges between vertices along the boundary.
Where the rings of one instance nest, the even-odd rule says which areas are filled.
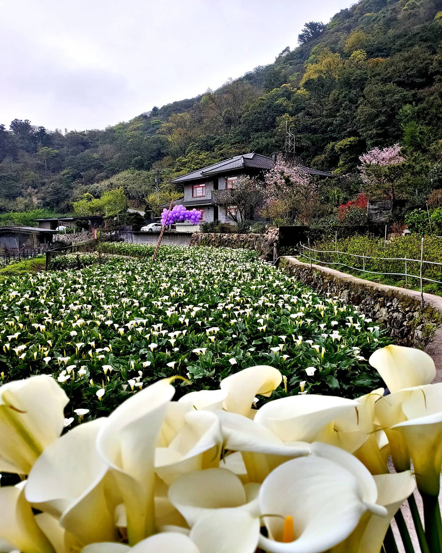
[[[264,234],[223,234],[203,233],[192,234],[191,246],[211,246],[214,248],[245,248],[254,249],[260,257],[273,259],[273,244],[278,243],[278,228],[269,228]]]

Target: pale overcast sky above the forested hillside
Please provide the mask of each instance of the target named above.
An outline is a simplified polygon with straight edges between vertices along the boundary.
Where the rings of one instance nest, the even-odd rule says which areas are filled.
[[[0,0],[0,123],[104,128],[293,49],[351,0]]]

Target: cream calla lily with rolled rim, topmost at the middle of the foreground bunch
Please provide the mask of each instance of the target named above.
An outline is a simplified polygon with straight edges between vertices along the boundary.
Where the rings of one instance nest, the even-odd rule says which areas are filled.
[[[282,375],[268,365],[257,365],[231,374],[220,382],[220,388],[227,392],[224,409],[230,413],[249,416],[256,395],[270,397],[282,382]]]

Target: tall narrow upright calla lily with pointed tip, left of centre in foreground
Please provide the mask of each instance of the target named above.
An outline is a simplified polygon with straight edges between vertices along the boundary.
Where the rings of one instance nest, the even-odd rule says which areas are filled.
[[[152,384],[115,409],[97,437],[123,498],[130,545],[155,531],[154,444],[174,393],[169,379]]]

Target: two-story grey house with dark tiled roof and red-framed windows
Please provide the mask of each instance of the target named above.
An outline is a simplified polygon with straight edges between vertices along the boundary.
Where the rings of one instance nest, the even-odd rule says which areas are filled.
[[[175,200],[174,205],[183,205],[188,209],[195,207],[201,211],[203,221],[220,221],[222,223],[233,223],[229,216],[231,207],[216,205],[214,190],[231,189],[235,186],[235,180],[240,175],[261,176],[273,167],[276,161],[276,154],[272,157],[251,152],[244,155],[234,155],[230,159],[218,161],[208,167],[203,167],[187,175],[182,175],[171,180],[171,184],[183,184],[184,196]],[[316,171],[304,168],[307,173],[323,177],[333,176],[331,173]],[[161,207],[169,207],[164,204]]]

